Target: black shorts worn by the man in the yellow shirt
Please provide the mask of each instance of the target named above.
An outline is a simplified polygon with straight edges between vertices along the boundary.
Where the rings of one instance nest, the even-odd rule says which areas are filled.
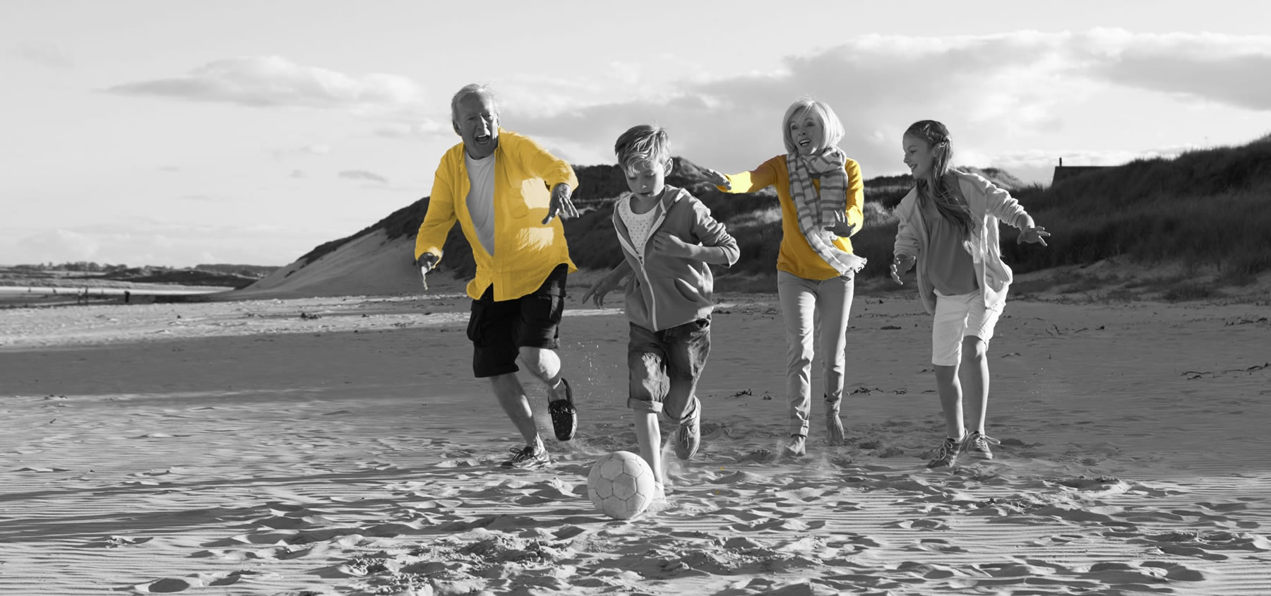
[[[468,339],[473,342],[473,375],[478,379],[521,370],[521,347],[555,349],[564,313],[567,264],[552,269],[538,290],[519,299],[494,301],[494,286],[473,300]]]

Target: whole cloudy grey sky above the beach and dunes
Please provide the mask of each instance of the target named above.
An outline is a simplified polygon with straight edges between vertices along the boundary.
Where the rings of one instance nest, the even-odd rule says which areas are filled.
[[[282,266],[431,193],[450,97],[577,165],[733,173],[829,103],[866,178],[939,119],[1047,184],[1271,132],[1271,3],[0,0],[0,264]],[[566,225],[569,225],[566,222]]]

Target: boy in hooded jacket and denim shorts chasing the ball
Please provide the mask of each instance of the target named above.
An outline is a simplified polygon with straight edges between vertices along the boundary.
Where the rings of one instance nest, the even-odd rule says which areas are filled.
[[[741,252],[723,224],[688,191],[666,184],[671,152],[666,131],[632,127],[614,145],[629,193],[614,203],[614,229],[623,262],[594,283],[583,301],[604,305],[605,294],[627,283],[630,339],[627,366],[641,456],[657,479],[666,478],[660,451],[657,414],[679,423],[675,455],[693,457],[702,442],[702,403],[694,395],[710,353],[710,311],[714,278],[710,263],[731,267]]]

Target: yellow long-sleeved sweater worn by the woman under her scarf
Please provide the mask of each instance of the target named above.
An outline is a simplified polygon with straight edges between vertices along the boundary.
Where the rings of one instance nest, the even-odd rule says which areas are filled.
[[[864,213],[860,207],[866,203],[864,180],[860,179],[860,165],[849,159],[843,164],[848,173],[848,224],[855,226],[852,234],[860,231],[864,222]],[[812,245],[807,243],[803,231],[798,227],[798,208],[791,198],[791,175],[785,169],[785,155],[778,155],[764,161],[751,172],[728,175],[732,188],[719,187],[721,191],[744,193],[755,192],[771,186],[777,189],[777,198],[782,203],[782,248],[777,255],[777,271],[796,274],[805,280],[830,280],[839,276],[839,272],[826,263]],[[821,189],[821,180],[812,180],[816,189]],[[852,239],[839,236],[834,245],[852,252]]]

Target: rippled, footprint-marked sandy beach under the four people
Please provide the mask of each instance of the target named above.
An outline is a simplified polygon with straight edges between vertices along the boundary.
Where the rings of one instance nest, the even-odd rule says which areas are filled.
[[[775,296],[719,296],[702,451],[622,522],[586,477],[636,449],[627,323],[581,287],[580,437],[533,471],[458,292],[0,310],[0,593],[1271,593],[1265,304],[1010,301],[998,457],[932,471],[913,296],[857,297],[849,445],[813,403],[793,461]]]

